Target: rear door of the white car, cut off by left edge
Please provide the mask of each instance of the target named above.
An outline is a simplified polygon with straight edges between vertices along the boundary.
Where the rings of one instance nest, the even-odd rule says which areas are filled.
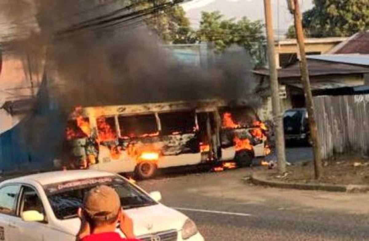
[[[13,240],[11,220],[17,214],[20,185],[6,184],[0,187],[0,240]]]

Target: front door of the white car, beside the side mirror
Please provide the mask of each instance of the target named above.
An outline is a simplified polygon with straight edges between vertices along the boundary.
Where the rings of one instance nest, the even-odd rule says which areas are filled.
[[[43,241],[43,235],[47,229],[47,218],[44,205],[36,188],[22,185],[20,191],[19,212],[10,223],[11,241]],[[44,221],[23,221],[22,213],[25,211],[37,211],[45,216]]]

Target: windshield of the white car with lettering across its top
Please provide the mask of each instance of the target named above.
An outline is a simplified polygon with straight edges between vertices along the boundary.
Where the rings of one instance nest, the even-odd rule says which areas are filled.
[[[120,177],[99,177],[44,186],[52,210],[58,219],[77,217],[86,193],[98,185],[113,187],[120,196],[123,209],[155,205],[156,202],[129,181]]]

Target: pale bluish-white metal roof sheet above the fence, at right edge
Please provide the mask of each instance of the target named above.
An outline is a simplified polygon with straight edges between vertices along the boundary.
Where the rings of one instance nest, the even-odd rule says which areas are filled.
[[[306,57],[307,59],[369,66],[369,54],[320,54]]]

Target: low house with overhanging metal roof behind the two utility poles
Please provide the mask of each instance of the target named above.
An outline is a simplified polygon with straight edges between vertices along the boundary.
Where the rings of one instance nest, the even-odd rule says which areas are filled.
[[[313,55],[307,57],[310,84],[313,91],[360,86],[365,84],[369,73],[369,55]],[[269,70],[253,71],[259,79],[259,94],[263,98],[261,111],[266,110],[264,118],[271,118],[271,101],[269,87]],[[304,107],[305,98],[299,63],[278,70],[278,81],[281,86],[283,110],[292,107]]]

